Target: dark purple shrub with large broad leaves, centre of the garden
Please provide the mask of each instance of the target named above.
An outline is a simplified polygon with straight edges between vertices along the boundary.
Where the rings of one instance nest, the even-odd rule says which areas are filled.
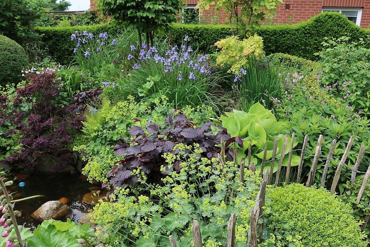
[[[196,127],[196,123],[178,109],[172,113],[166,118],[164,126],[149,124],[144,127],[146,131],[143,127],[133,126],[129,130],[129,134],[133,137],[132,140],[128,141],[128,138],[121,138],[124,142],[114,147],[114,153],[117,156],[123,156],[124,159],[117,161],[119,166],[108,172],[108,176],[111,177],[111,188],[137,183],[137,177],[131,176],[132,170],[137,167],[141,167],[147,175],[149,183],[160,183],[161,178],[168,174],[169,169],[179,172],[179,164],[185,157],[175,161],[172,168],[168,167],[162,157],[164,153],[168,152],[179,154],[178,150],[174,150],[175,145],[179,143],[186,146],[199,144],[199,148],[203,151],[201,157],[218,158],[221,147],[217,144],[220,144],[221,139],[223,139],[225,141],[226,160],[228,161],[232,161],[234,156],[234,150],[228,146],[233,142],[240,146],[243,145],[242,139],[240,137],[231,138],[226,128],[216,126],[212,122],[206,122],[202,126]],[[140,120],[136,119],[136,121]],[[211,126],[214,127],[213,130]],[[186,150],[185,153],[191,151],[193,150]],[[161,171],[161,166],[166,167],[167,172]],[[103,187],[107,185],[103,184]]]

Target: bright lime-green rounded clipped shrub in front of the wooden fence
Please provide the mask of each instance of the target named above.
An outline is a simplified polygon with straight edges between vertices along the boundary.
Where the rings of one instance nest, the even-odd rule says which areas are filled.
[[[266,203],[266,226],[275,236],[265,246],[368,246],[350,208],[324,188],[290,184],[268,190],[266,197],[271,199]]]

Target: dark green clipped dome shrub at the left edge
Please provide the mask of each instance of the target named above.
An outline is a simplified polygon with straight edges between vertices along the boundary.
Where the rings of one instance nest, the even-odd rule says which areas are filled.
[[[28,56],[14,40],[0,35],[0,86],[17,84],[22,79],[21,70],[28,65]]]

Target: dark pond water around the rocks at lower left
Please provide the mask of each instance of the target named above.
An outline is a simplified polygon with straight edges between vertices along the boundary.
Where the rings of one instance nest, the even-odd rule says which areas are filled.
[[[79,174],[56,174],[51,176],[17,174],[17,178],[18,180],[13,180],[13,185],[7,186],[8,191],[13,193],[13,200],[36,195],[45,196],[15,203],[14,209],[22,211],[22,216],[17,217],[17,223],[31,229],[41,224],[40,221],[34,220],[31,214],[47,201],[56,201],[63,197],[69,200],[67,205],[72,212],[68,218],[77,222],[81,216],[88,213],[88,210],[92,208],[90,204],[83,202],[84,194],[98,189],[98,187],[89,183],[83,175]],[[24,182],[26,185],[20,187],[20,182]],[[66,221],[67,218],[61,220]]]

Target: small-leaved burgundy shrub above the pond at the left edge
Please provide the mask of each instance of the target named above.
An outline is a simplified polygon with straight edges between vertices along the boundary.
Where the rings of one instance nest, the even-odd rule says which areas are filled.
[[[26,78],[29,83],[14,96],[0,97],[0,126],[6,126],[6,135],[15,136],[20,144],[1,165],[27,161],[33,166],[43,153],[56,154],[65,147],[82,127],[83,107],[66,101],[55,73],[28,74]]]

